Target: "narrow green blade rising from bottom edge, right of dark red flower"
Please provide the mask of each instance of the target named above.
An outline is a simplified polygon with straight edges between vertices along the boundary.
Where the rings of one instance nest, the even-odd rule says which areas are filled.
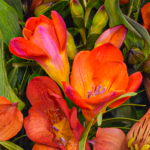
[[[85,149],[85,144],[86,144],[86,140],[88,137],[88,133],[91,129],[91,126],[93,125],[94,119],[91,120],[91,122],[88,124],[88,126],[84,129],[80,141],[79,141],[79,150],[84,150]]]

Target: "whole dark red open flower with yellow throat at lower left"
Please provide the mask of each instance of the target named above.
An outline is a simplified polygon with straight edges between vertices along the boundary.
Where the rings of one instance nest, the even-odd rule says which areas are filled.
[[[27,97],[33,106],[24,120],[24,127],[28,137],[36,142],[33,150],[78,150],[84,128],[77,119],[76,108],[67,107],[58,89],[48,77],[36,77],[27,87]]]

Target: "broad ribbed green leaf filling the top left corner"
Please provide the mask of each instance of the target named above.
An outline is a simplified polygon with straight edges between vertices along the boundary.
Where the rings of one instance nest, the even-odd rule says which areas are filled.
[[[0,0],[0,18],[0,30],[7,45],[12,38],[22,36],[16,11],[3,0]]]

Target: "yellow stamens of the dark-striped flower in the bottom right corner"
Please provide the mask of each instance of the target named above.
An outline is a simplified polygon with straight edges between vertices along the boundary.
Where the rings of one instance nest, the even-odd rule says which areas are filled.
[[[129,140],[128,140],[128,148],[130,148],[130,150],[149,150],[150,148],[150,144],[144,144],[140,149],[138,147],[138,144],[134,144],[134,146],[132,146],[134,142],[134,138],[131,137]]]

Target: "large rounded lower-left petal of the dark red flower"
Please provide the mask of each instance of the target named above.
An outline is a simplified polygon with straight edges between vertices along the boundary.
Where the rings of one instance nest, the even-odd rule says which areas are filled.
[[[63,144],[55,138],[53,124],[65,118],[64,113],[53,102],[42,101],[31,107],[29,116],[24,119],[28,137],[39,144],[65,150]]]

